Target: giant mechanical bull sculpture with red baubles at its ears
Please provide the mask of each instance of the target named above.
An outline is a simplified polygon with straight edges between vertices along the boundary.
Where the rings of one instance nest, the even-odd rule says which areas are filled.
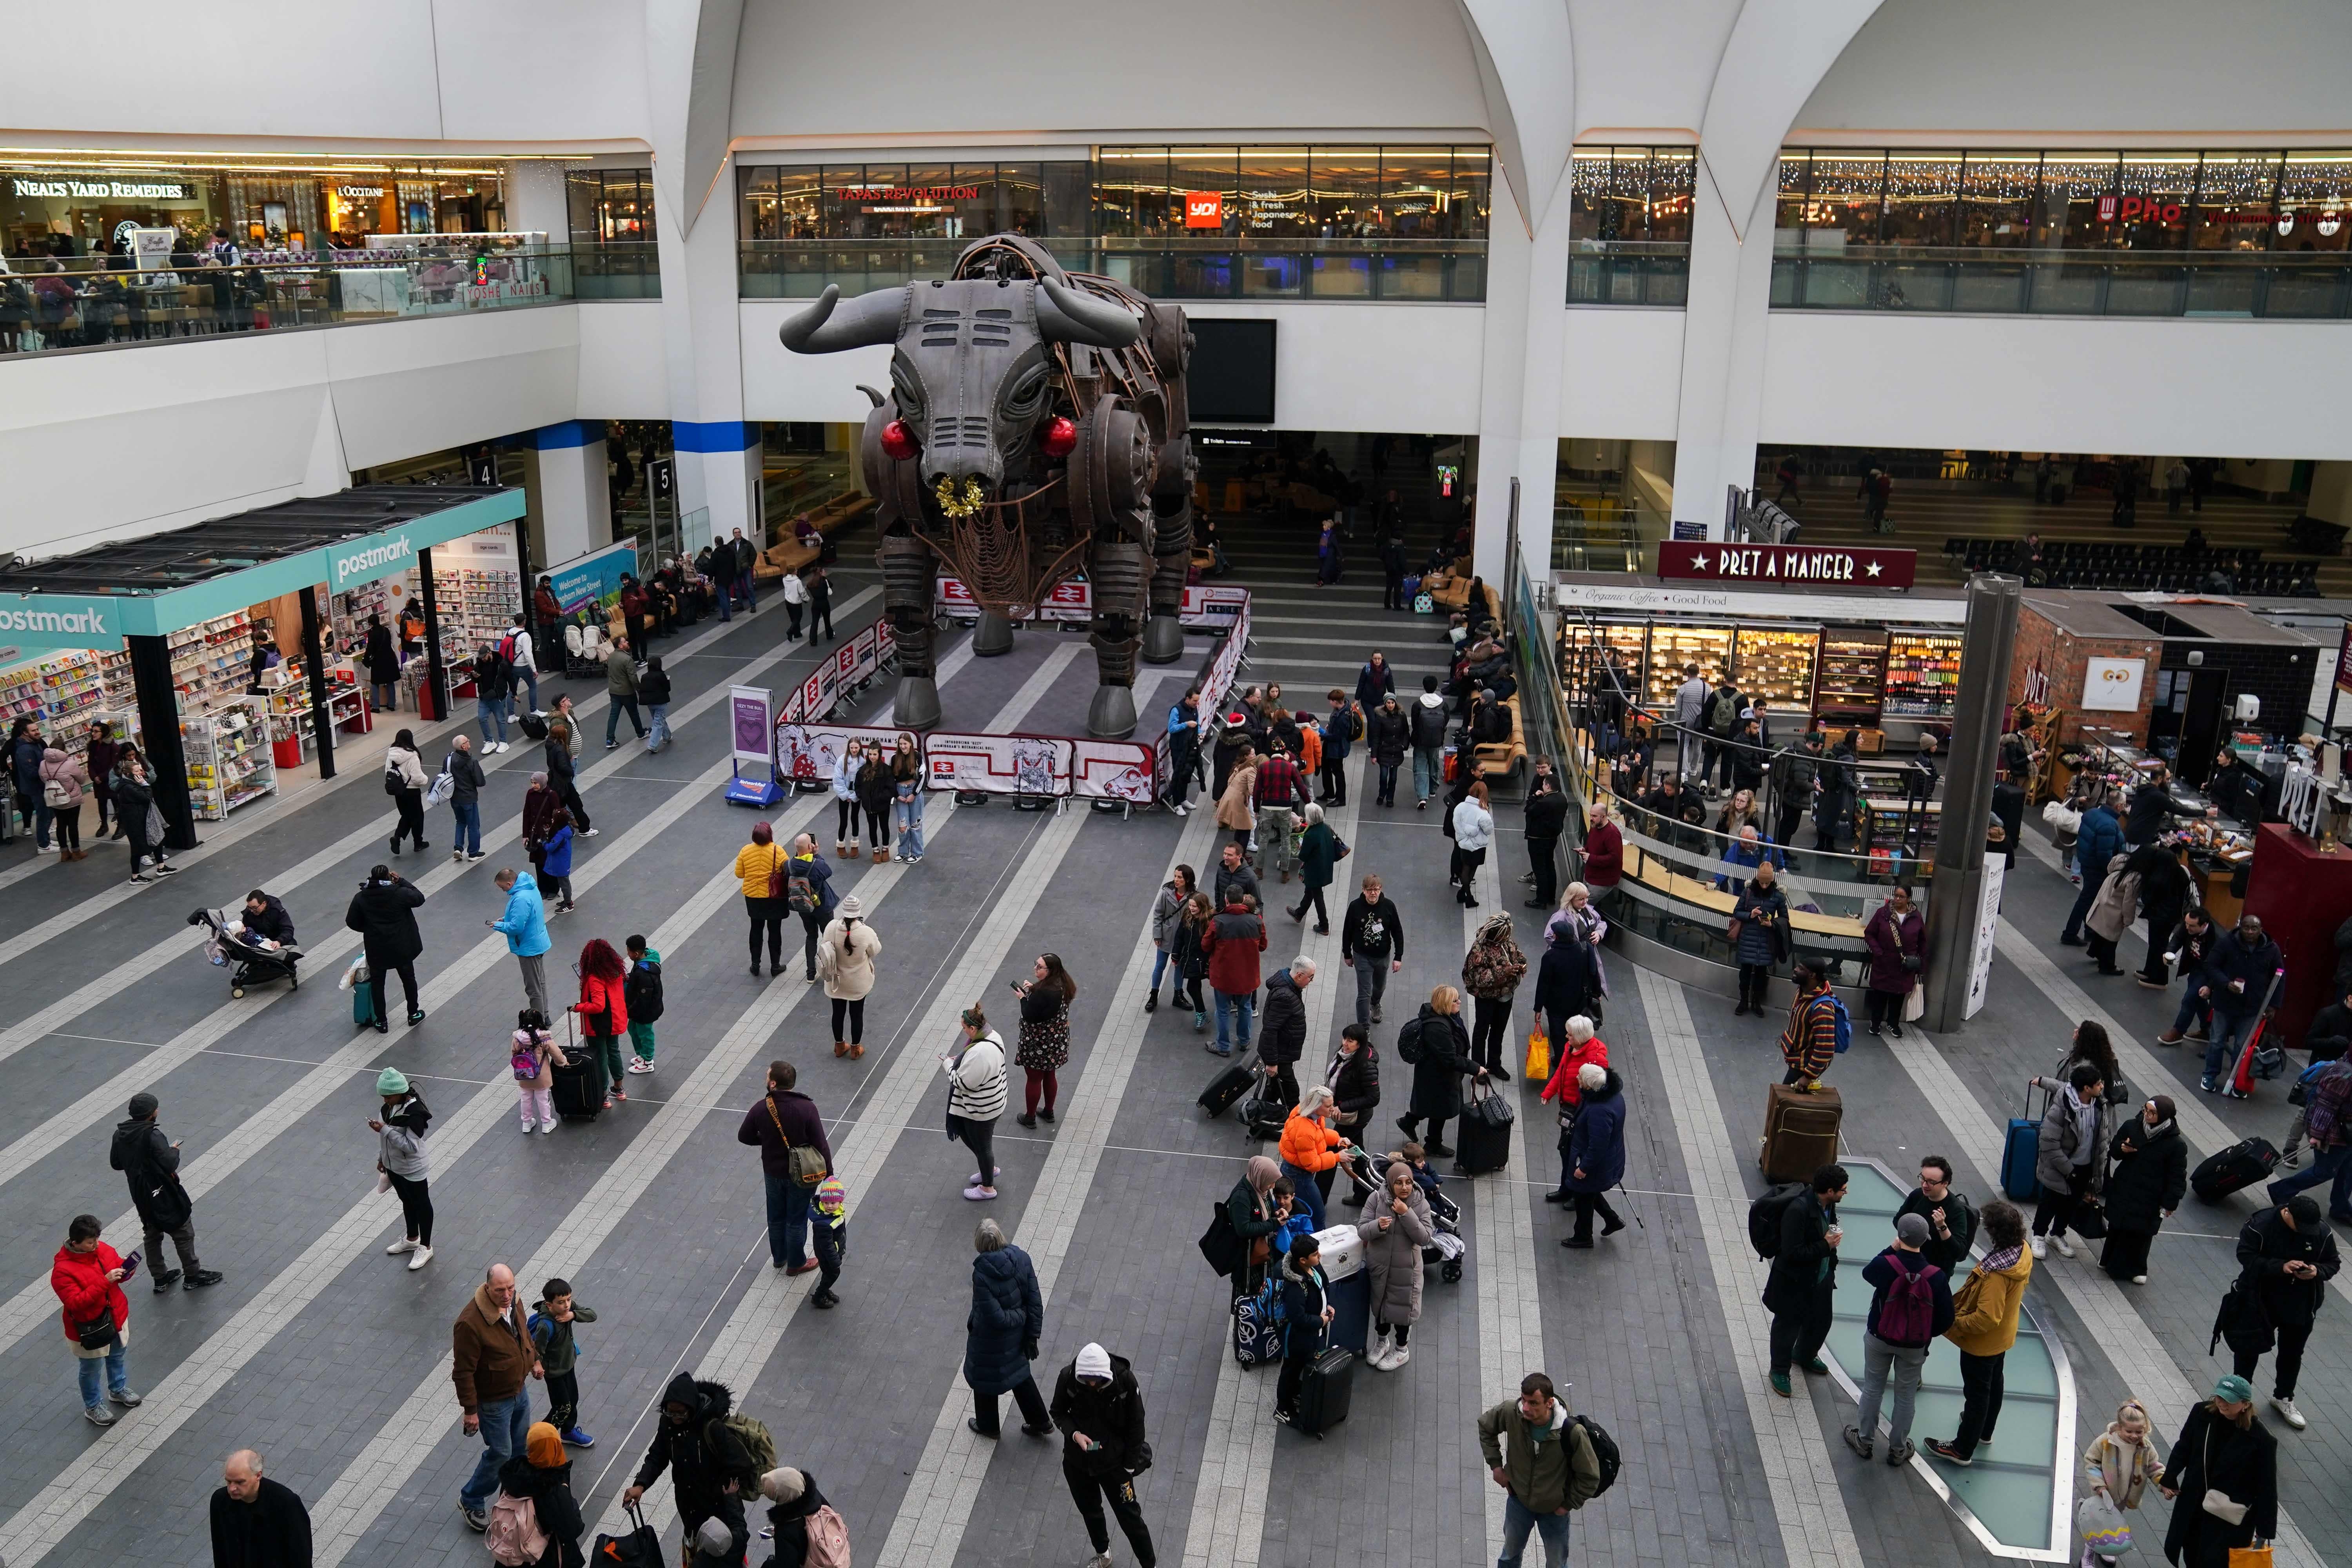
[[[1138,649],[1148,663],[1183,658],[1195,475],[1183,310],[1063,273],[1023,235],[990,235],[943,282],[851,301],[828,287],[779,339],[804,355],[891,346],[889,400],[858,390],[875,402],[861,461],[898,637],[896,722],[941,717],[936,555],[981,604],[983,654],[1002,654],[1007,623],[1082,574],[1101,682],[1087,731],[1134,733]]]

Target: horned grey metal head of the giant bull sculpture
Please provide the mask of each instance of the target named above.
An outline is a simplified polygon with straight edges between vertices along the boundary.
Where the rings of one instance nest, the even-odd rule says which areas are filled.
[[[922,487],[943,496],[1004,491],[1037,451],[1054,416],[1056,343],[1124,348],[1134,315],[1044,280],[948,280],[875,289],[851,301],[826,287],[779,329],[786,348],[830,355],[891,343],[889,381],[898,418],[884,451],[920,458]]]

